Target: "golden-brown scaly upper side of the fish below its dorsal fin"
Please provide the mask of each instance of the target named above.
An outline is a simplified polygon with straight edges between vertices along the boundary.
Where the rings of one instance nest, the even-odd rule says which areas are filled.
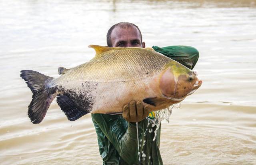
[[[81,78],[97,82],[129,81],[157,74],[168,62],[167,57],[150,50],[144,50],[142,53],[138,53],[138,48],[110,50],[104,52],[101,58],[92,59],[90,62],[70,69],[66,74],[57,78],[56,82],[62,83],[65,77],[72,77],[74,81],[81,80]]]

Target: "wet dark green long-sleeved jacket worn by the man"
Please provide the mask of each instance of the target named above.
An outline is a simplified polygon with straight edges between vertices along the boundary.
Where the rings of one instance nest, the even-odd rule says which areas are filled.
[[[152,47],[156,52],[193,69],[198,51],[190,46]],[[162,165],[160,155],[160,128],[152,127],[155,114],[138,122],[140,164]],[[139,164],[136,123],[126,121],[122,115],[92,114],[92,121],[98,135],[98,145],[103,165],[137,165]],[[157,132],[153,141],[154,132]]]

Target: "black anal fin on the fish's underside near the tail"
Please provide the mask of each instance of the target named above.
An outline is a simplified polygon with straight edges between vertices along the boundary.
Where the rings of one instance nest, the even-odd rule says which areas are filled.
[[[79,109],[70,98],[64,94],[57,95],[57,103],[60,106],[60,109],[65,113],[68,120],[75,121],[89,113],[88,111],[83,111]]]

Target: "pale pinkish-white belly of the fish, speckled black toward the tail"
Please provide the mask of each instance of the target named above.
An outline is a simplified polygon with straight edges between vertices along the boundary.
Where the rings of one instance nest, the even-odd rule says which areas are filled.
[[[79,109],[90,113],[117,113],[131,100],[142,101],[148,97],[161,96],[154,91],[158,75],[147,78],[134,78],[126,81],[89,81],[70,79],[66,75],[57,78],[52,84],[58,86],[58,92],[67,95]],[[153,85],[152,85],[153,84]]]

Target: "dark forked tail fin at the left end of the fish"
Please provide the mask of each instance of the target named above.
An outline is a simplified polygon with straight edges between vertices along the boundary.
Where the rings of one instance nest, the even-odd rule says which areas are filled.
[[[56,97],[56,89],[53,91],[46,87],[47,83],[53,78],[33,70],[22,70],[20,72],[20,77],[26,81],[33,93],[32,101],[28,105],[28,117],[32,123],[38,124],[44,119],[52,100]]]

